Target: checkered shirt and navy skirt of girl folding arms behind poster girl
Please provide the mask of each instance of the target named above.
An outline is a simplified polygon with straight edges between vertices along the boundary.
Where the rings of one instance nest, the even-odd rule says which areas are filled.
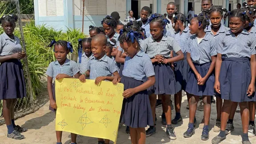
[[[152,59],[156,55],[162,55],[166,59],[170,58],[171,51],[174,52],[180,51],[180,46],[170,36],[163,36],[160,42],[156,42],[153,37],[148,37],[144,42],[140,44],[142,50],[148,54],[148,56]],[[159,64],[153,63],[153,67],[155,70],[156,83],[149,88],[149,92],[154,93],[156,95],[167,94],[172,95],[176,94],[176,80],[174,76],[174,72],[171,68],[171,64]]]

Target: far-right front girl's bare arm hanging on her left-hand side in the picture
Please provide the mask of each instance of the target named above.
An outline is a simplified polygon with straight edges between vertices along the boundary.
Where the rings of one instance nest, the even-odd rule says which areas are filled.
[[[217,54],[217,58],[216,58],[216,64],[215,64],[215,84],[214,84],[214,89],[219,94],[220,94],[220,81],[219,81],[219,77],[220,77],[221,63],[222,63],[221,54],[218,53]]]

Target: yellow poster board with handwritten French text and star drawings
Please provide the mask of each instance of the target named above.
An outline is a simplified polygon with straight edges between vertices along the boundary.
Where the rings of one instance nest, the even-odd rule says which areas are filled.
[[[78,79],[55,81],[56,131],[109,139],[116,143],[124,84]]]

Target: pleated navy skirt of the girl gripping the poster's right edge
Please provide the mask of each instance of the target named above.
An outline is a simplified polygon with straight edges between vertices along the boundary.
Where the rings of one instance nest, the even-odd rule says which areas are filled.
[[[124,84],[124,90],[126,90],[128,88],[136,88],[144,82],[123,76],[121,83]],[[132,128],[145,128],[147,125],[154,125],[147,90],[135,93],[133,96],[124,99],[121,119],[121,123]]]

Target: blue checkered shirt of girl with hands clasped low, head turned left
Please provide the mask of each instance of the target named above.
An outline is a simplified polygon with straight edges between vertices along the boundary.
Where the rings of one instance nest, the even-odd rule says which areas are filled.
[[[191,60],[197,64],[211,62],[211,56],[216,56],[216,44],[213,36],[206,33],[203,40],[198,44],[196,35],[188,39],[187,52],[190,53]]]

